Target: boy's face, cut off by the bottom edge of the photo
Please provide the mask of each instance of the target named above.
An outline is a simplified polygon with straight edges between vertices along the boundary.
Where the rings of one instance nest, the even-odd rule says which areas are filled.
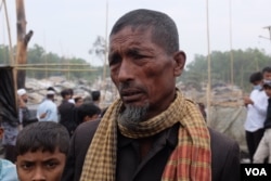
[[[65,160],[66,155],[59,148],[54,153],[38,150],[18,155],[16,161],[18,179],[20,181],[60,181]]]

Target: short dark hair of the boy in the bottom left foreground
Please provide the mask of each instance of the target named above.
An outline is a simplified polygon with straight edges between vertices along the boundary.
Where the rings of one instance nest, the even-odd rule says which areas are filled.
[[[16,156],[27,152],[53,153],[56,148],[67,155],[69,134],[67,129],[54,121],[38,121],[25,127],[17,135]]]

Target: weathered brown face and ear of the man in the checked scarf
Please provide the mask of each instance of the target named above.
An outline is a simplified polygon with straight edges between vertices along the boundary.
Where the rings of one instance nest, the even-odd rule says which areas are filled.
[[[152,41],[151,30],[128,26],[111,36],[111,77],[125,106],[147,106],[146,118],[165,111],[175,99],[175,78],[185,63],[182,55],[167,54]]]

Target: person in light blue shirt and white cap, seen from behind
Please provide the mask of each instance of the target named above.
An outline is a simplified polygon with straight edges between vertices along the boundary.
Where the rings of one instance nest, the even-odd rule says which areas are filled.
[[[55,92],[52,90],[47,91],[46,100],[39,104],[37,108],[37,118],[39,121],[59,121],[57,107],[54,103]],[[43,115],[46,113],[46,115]]]

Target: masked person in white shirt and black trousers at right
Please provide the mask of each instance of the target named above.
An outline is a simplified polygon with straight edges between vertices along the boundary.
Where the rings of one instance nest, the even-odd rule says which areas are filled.
[[[253,163],[253,156],[264,132],[263,121],[266,119],[268,96],[262,90],[262,80],[263,75],[261,72],[253,73],[249,77],[253,91],[249,96],[244,98],[244,105],[247,108],[244,128],[250,163]]]

